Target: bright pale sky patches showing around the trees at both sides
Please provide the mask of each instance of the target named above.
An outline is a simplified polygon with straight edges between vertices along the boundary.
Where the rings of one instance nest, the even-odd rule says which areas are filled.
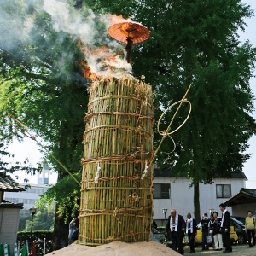
[[[242,0],[241,3],[247,3],[255,11],[256,15],[256,0]],[[245,32],[240,32],[241,43],[244,43],[247,39],[256,47],[256,17],[254,16],[251,19],[246,20],[247,28]],[[256,71],[254,71],[256,76]],[[256,96],[256,78],[251,79],[250,81],[253,94]],[[256,108],[256,100],[254,100],[254,108]],[[253,117],[256,119],[256,111],[254,110]],[[247,153],[252,154],[251,158],[247,160],[244,165],[243,172],[247,176],[246,187],[249,189],[256,189],[256,136],[253,136],[249,141],[250,147],[247,149]],[[42,153],[38,150],[38,145],[34,141],[26,138],[23,143],[15,142],[9,146],[9,152],[15,154],[15,161],[23,161],[28,158],[32,163],[38,163],[42,160]],[[19,176],[18,181],[23,182],[24,178],[29,180],[29,183],[37,183],[37,176],[26,175],[21,172],[16,172],[16,175]],[[49,177],[49,183],[55,183],[57,179],[57,174],[52,172]]]

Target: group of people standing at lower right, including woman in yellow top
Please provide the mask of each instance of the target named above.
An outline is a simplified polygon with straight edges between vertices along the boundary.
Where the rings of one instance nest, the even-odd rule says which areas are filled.
[[[218,218],[218,212],[213,212],[210,218],[208,218],[207,213],[204,213],[201,219],[202,250],[209,250],[211,246],[215,251],[224,249],[223,253],[231,253],[230,212],[227,211],[224,204],[220,204],[219,209],[221,211],[221,218]],[[256,216],[253,216],[253,212],[251,211],[248,211],[247,215],[245,229],[249,247],[253,247],[255,246]],[[182,255],[184,253],[183,237],[185,233],[189,240],[189,253],[195,253],[194,240],[197,234],[195,219],[191,217],[191,213],[189,212],[187,214],[187,220],[184,220],[182,215],[177,214],[177,211],[172,209],[166,224],[166,236],[170,236],[171,238],[172,249]]]

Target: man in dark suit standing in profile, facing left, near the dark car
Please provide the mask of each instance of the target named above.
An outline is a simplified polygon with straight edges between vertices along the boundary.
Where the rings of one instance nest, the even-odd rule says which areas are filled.
[[[222,234],[222,240],[224,243],[224,253],[231,253],[231,241],[230,241],[230,212],[226,209],[225,204],[219,205],[220,211],[222,212],[220,231]]]

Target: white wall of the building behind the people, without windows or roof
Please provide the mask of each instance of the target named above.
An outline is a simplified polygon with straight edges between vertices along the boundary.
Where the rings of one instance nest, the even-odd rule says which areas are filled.
[[[194,188],[190,187],[191,181],[188,178],[174,177],[154,177],[154,183],[170,183],[171,197],[170,199],[154,199],[154,220],[158,225],[165,224],[165,215],[162,212],[163,208],[167,208],[166,218],[170,215],[171,209],[177,210],[178,214],[186,218],[188,212],[191,212],[194,217]],[[215,179],[212,184],[200,184],[200,212],[209,213],[209,209],[213,209],[220,215],[219,204],[227,201],[228,198],[217,198],[216,184],[230,184],[231,196],[236,195],[241,188],[245,187],[243,179]],[[154,185],[153,185],[154,186]],[[232,214],[231,207],[228,207]]]

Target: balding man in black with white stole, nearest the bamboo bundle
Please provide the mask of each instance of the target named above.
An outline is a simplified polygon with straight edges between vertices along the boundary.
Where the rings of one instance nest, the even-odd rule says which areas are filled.
[[[166,236],[168,236],[168,231],[171,230],[172,250],[177,251],[178,248],[178,253],[182,255],[184,254],[183,237],[185,228],[186,224],[183,217],[172,209],[166,224]]]

